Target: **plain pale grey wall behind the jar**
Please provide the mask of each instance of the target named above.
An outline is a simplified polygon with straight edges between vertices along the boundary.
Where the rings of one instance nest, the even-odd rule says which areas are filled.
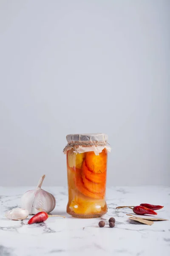
[[[66,185],[65,136],[91,132],[113,148],[108,185],[170,185],[169,14],[169,0],[0,0],[0,185]]]

